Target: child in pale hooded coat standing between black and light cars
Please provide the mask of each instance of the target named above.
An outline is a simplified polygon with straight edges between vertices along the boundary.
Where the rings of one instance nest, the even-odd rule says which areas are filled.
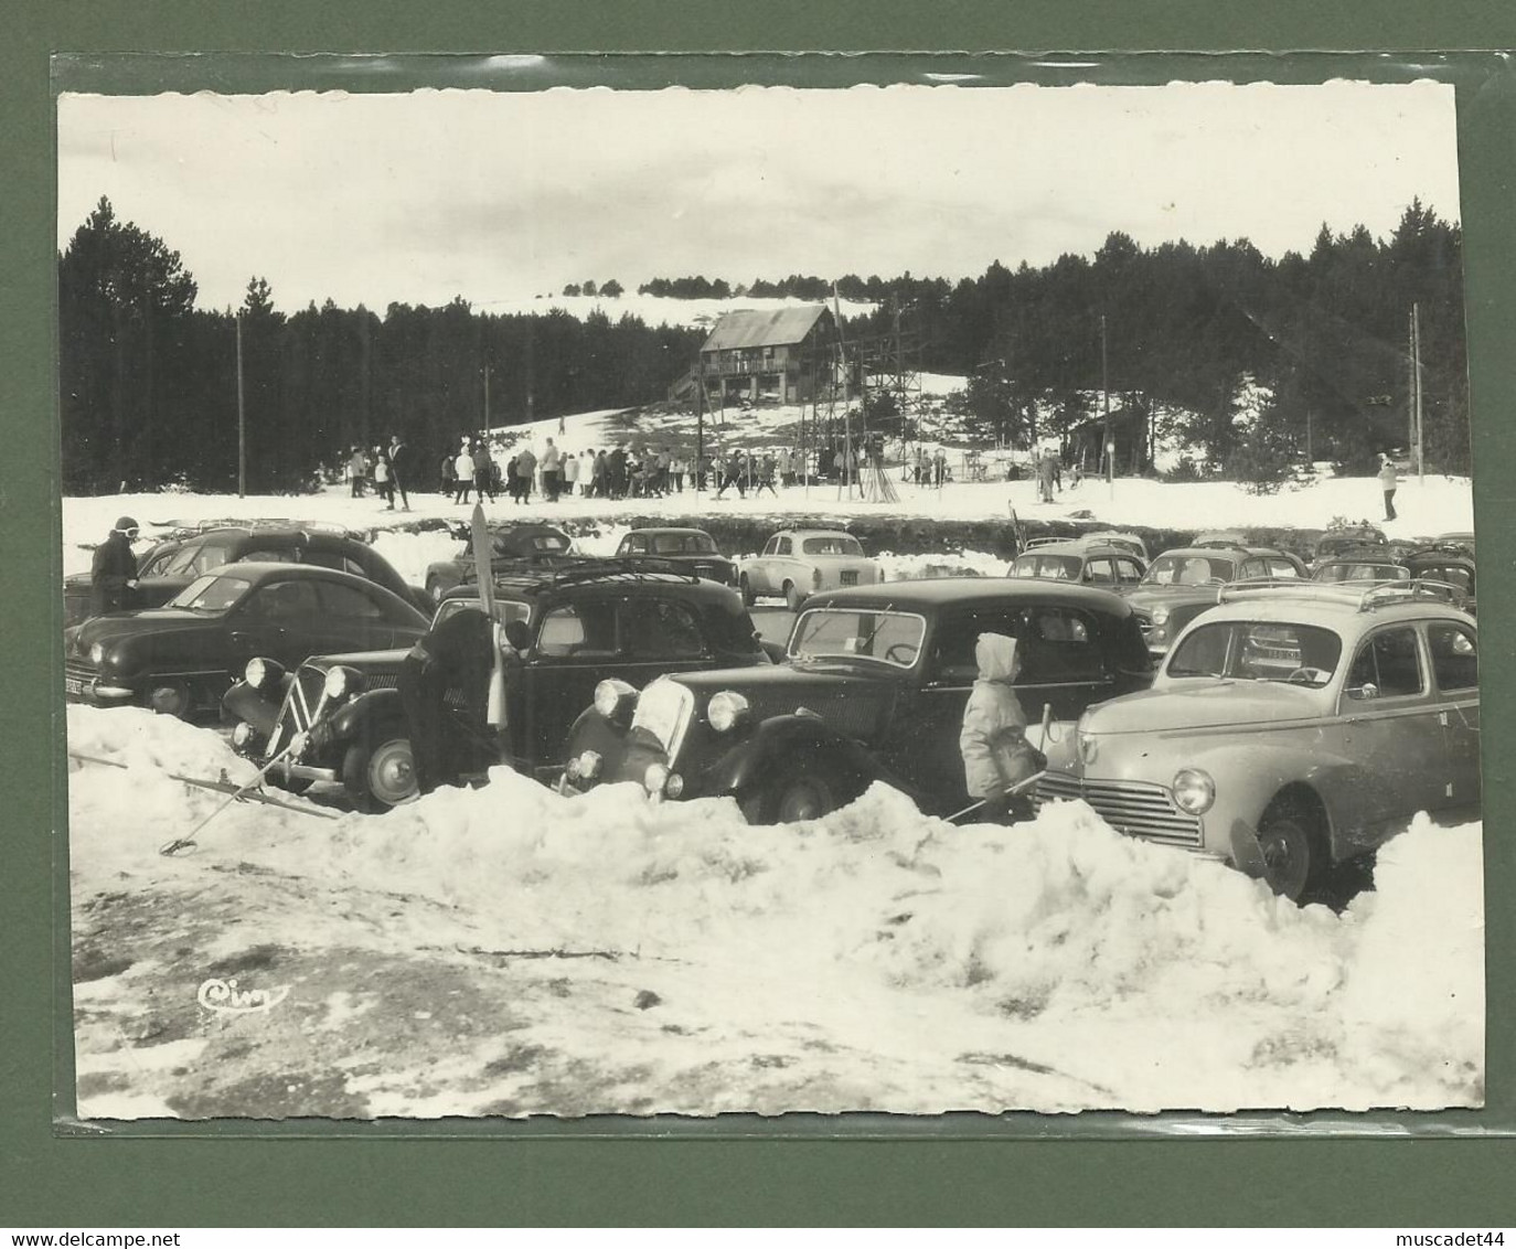
[[[1048,756],[1026,740],[1026,714],[1013,685],[1022,670],[1016,638],[979,634],[973,658],[979,679],[973,682],[958,734],[969,794],[984,800],[982,822],[1031,819],[1031,797],[1011,791],[1041,772]]]

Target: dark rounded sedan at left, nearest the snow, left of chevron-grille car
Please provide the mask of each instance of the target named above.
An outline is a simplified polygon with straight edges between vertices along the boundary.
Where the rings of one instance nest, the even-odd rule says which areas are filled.
[[[64,693],[96,706],[190,715],[221,705],[253,656],[409,646],[426,617],[397,594],[311,564],[238,561],[161,608],[112,612],[64,634]]]

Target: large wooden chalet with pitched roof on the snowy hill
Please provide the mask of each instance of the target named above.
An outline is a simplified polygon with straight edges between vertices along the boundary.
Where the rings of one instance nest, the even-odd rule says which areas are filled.
[[[700,347],[682,390],[705,387],[706,403],[810,403],[831,382],[837,321],[825,303],[725,312]]]

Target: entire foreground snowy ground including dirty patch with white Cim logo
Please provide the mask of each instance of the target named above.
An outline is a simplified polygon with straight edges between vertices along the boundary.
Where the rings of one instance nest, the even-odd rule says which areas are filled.
[[[1483,1100],[1478,825],[1419,822],[1342,916],[1082,803],[954,828],[884,787],[749,828],[500,772],[238,805],[170,859],[221,797],[167,773],[249,765],[147,712],[68,731],[130,765],[68,778],[85,1117]]]

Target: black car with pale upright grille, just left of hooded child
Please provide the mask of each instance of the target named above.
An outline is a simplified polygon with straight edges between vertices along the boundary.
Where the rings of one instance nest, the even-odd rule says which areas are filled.
[[[753,823],[816,819],[873,781],[957,812],[970,803],[958,734],[982,632],[1019,641],[1032,722],[1045,708],[1072,722],[1152,681],[1131,608],[1104,590],[994,578],[838,590],[805,605],[782,664],[678,673],[641,696],[602,684],[570,735],[567,782],[731,796]]]

